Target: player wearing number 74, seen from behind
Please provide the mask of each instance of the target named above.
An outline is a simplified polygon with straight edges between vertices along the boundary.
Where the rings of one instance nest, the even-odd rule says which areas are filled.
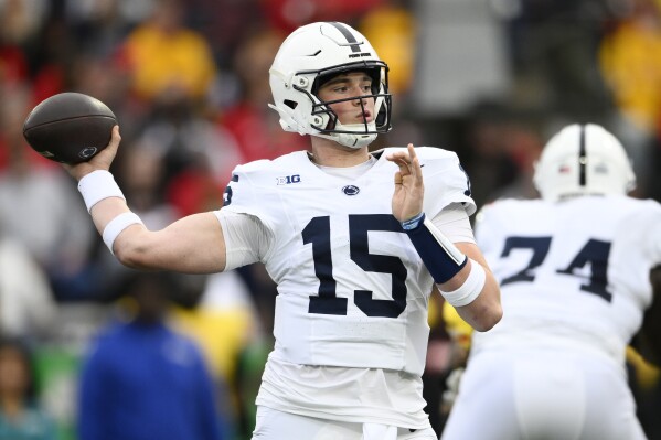
[[[639,440],[627,345],[653,298],[661,205],[628,196],[625,149],[598,125],[571,125],[535,168],[540,200],[502,200],[476,238],[505,311],[473,333],[443,440]],[[661,320],[647,315],[648,324]],[[659,346],[661,333],[648,332]]]

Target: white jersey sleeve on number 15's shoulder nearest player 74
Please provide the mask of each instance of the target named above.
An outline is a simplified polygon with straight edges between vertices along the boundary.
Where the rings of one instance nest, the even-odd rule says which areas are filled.
[[[416,149],[425,178],[425,213],[435,217],[445,207],[456,203],[470,216],[476,212],[470,179],[456,153],[434,147]]]

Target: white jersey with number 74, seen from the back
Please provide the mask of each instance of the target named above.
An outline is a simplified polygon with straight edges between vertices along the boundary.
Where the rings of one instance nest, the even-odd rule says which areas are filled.
[[[657,202],[500,201],[478,216],[476,239],[503,307],[501,322],[475,335],[476,351],[559,346],[623,365],[652,301],[650,269],[661,264]]]

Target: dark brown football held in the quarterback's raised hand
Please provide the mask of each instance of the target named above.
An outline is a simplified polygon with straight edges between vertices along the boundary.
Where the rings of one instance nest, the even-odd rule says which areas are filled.
[[[65,92],[32,109],[23,124],[23,137],[44,158],[75,164],[106,148],[115,125],[117,118],[104,103]]]

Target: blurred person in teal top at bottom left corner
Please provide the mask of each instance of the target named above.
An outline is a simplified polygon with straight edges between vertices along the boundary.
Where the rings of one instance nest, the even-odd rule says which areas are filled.
[[[18,340],[0,341],[0,440],[56,439],[36,396],[32,353]]]

